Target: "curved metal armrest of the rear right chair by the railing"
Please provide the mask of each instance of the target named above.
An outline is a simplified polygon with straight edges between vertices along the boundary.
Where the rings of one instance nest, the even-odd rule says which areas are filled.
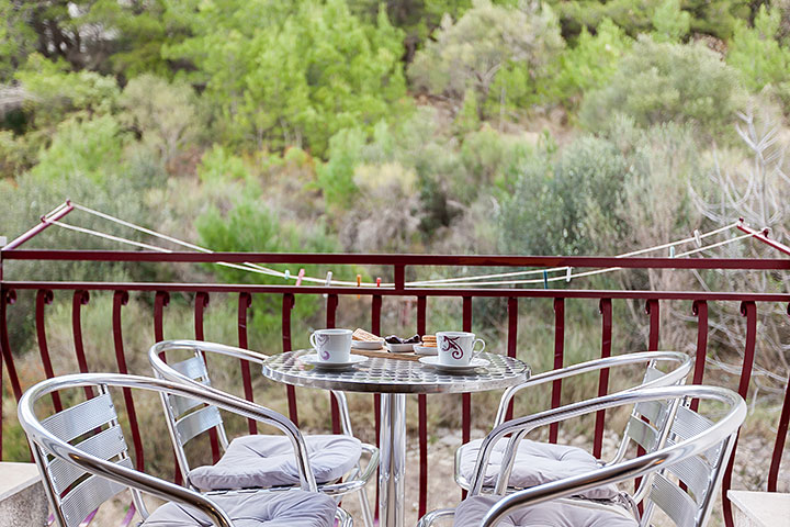
[[[630,390],[639,390],[643,388],[658,388],[668,386],[676,384],[688,375],[691,371],[691,358],[679,351],[639,351],[634,354],[618,355],[614,357],[606,357],[602,359],[589,360],[587,362],[579,362],[578,365],[568,366],[558,370],[551,370],[537,375],[530,377],[527,381],[508,388],[499,401],[499,408],[497,410],[496,418],[494,419],[494,426],[498,426],[505,422],[505,415],[507,408],[512,401],[512,397],[523,390],[524,388],[533,388],[546,382],[558,381],[568,377],[579,375],[582,373],[589,373],[591,371],[600,371],[608,368],[616,368],[620,366],[635,365],[640,362],[653,362],[656,360],[678,362],[678,367],[670,371],[666,375],[646,382],[644,384],[630,388]]]

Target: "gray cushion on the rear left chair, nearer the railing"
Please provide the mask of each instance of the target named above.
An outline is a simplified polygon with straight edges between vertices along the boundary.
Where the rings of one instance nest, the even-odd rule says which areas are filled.
[[[359,439],[340,435],[306,436],[311,468],[318,483],[349,472],[362,455]],[[190,483],[205,491],[252,489],[298,484],[298,470],[291,440],[285,436],[237,437],[213,466],[190,471]]]

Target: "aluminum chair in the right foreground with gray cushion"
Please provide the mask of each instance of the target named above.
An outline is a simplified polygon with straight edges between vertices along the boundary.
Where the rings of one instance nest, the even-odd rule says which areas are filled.
[[[723,417],[715,423],[691,411],[690,397],[722,404]],[[665,446],[630,460],[618,460],[584,474],[544,483],[506,494],[512,468],[512,453],[521,438],[552,423],[622,405],[684,401],[670,404],[670,433]],[[746,403],[731,390],[714,386],[668,386],[620,392],[574,403],[497,426],[483,441],[470,495],[454,509],[432,511],[418,527],[430,527],[443,518],[453,518],[455,527],[508,525],[574,525],[587,527],[642,527],[651,525],[656,508],[678,527],[704,527],[710,518],[715,493],[732,455],[737,430],[746,417]],[[503,471],[493,495],[482,494],[484,467],[493,447],[510,436]],[[634,478],[652,478],[642,501],[644,513],[635,507],[567,500],[588,489]],[[564,522],[564,523],[563,523]]]

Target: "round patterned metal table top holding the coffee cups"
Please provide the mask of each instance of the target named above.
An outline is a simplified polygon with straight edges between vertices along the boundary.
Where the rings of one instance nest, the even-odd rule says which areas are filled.
[[[263,362],[263,375],[285,384],[343,392],[462,393],[512,386],[530,374],[526,363],[496,354],[481,354],[479,358],[490,363],[460,374],[444,373],[413,360],[383,358],[370,358],[347,370],[326,370],[302,358],[314,352],[301,349],[274,355]]]

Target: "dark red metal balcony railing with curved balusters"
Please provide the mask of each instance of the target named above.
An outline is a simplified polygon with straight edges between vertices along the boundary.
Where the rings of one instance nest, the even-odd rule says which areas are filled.
[[[55,291],[69,291],[72,294],[72,330],[75,336],[75,352],[81,371],[87,371],[88,366],[82,346],[81,309],[90,300],[90,292],[113,291],[112,329],[114,335],[115,357],[119,371],[126,371],[126,359],[123,346],[123,334],[121,330],[122,306],[128,301],[129,292],[154,294],[154,329],[155,337],[162,339],[163,310],[167,306],[170,293],[193,293],[194,294],[194,325],[195,337],[203,338],[203,311],[208,305],[212,293],[235,294],[238,298],[238,344],[247,347],[247,319],[248,310],[258,295],[275,294],[282,298],[282,349],[287,351],[292,348],[292,309],[297,295],[326,294],[326,325],[331,327],[337,319],[337,307],[340,295],[363,295],[371,299],[371,322],[370,329],[381,334],[382,300],[384,296],[416,299],[416,329],[418,334],[427,332],[427,299],[428,298],[456,298],[462,303],[462,327],[466,330],[472,328],[472,306],[474,299],[504,298],[507,299],[507,345],[506,352],[517,356],[518,334],[518,306],[522,299],[552,299],[554,309],[554,367],[562,367],[565,362],[565,311],[566,300],[587,299],[598,302],[598,313],[601,317],[601,344],[600,356],[608,357],[612,349],[612,304],[616,301],[637,301],[644,303],[647,315],[645,323],[648,327],[648,349],[658,349],[659,343],[659,311],[662,302],[686,301],[689,302],[689,311],[697,319],[696,339],[696,368],[692,382],[701,383],[704,375],[706,355],[708,348],[708,307],[710,302],[740,302],[741,313],[745,317],[746,340],[744,362],[740,374],[738,392],[746,396],[752,381],[753,363],[757,335],[757,304],[790,303],[790,294],[777,293],[751,293],[751,292],[727,292],[727,291],[627,291],[627,290],[580,290],[580,289],[450,289],[450,288],[409,288],[406,287],[405,276],[407,267],[418,266],[442,266],[442,267],[558,267],[571,266],[574,268],[605,268],[620,267],[629,269],[737,269],[737,270],[790,270],[788,259],[675,259],[675,258],[599,258],[599,257],[516,257],[516,256],[429,256],[429,255],[308,255],[308,254],[195,254],[195,253],[122,253],[122,251],[94,251],[94,250],[2,250],[0,251],[0,271],[2,264],[9,260],[34,260],[40,262],[75,260],[75,261],[127,261],[127,262],[260,262],[260,264],[302,264],[302,265],[356,265],[356,266],[390,266],[393,269],[393,283],[391,288],[370,287],[293,287],[272,284],[221,284],[221,283],[151,283],[151,282],[49,282],[49,281],[10,281],[0,280],[0,346],[7,368],[7,374],[11,382],[11,392],[16,399],[20,397],[23,388],[14,368],[13,354],[9,346],[8,334],[8,306],[13,304],[16,294],[35,291],[35,321],[38,348],[41,352],[44,373],[46,377],[54,374],[50,351],[47,347],[46,329],[44,325],[45,306],[53,301]],[[0,276],[1,278],[1,276]],[[788,307],[790,310],[790,307]],[[528,359],[527,357],[523,357]],[[589,357],[592,358],[592,357]],[[529,360],[529,359],[528,359]],[[252,383],[249,365],[241,363],[244,393],[249,400],[252,399]],[[0,377],[0,379],[2,379]],[[602,371],[599,377],[598,393],[605,394],[609,389],[608,371]],[[551,403],[556,406],[561,402],[562,382],[557,381],[552,386]],[[134,400],[129,394],[124,394],[132,428],[132,437],[136,453],[136,463],[143,466],[143,445],[140,433],[137,427],[137,418],[134,408]],[[294,421],[298,421],[295,391],[292,386],[286,389],[289,414]],[[379,425],[379,397],[376,402],[375,422]],[[59,401],[54,401],[56,407]],[[427,399],[425,395],[417,397],[418,415],[418,441],[419,441],[419,513],[427,509],[428,487],[428,426],[427,426]],[[1,407],[0,407],[1,412]],[[509,408],[512,415],[512,407]],[[601,452],[602,436],[606,415],[600,412],[596,415],[594,431],[594,452],[599,456]],[[785,440],[790,421],[790,390],[786,389],[781,414],[778,419],[778,434],[774,444],[774,453],[768,471],[767,490],[776,491],[779,475],[781,455],[785,449]],[[462,441],[469,441],[472,422],[471,396],[462,396]],[[256,431],[255,423],[249,424],[251,433]],[[332,401],[332,429],[339,430],[337,405]],[[1,434],[1,431],[0,431]],[[376,433],[377,434],[377,433]],[[557,428],[550,430],[552,441],[557,438]],[[213,441],[214,442],[214,441]],[[0,459],[2,456],[2,436],[0,435]],[[215,442],[213,444],[214,456],[218,453]],[[734,456],[733,456],[734,459]],[[732,482],[733,461],[731,460],[723,485],[723,495]],[[724,517],[727,526],[732,525],[730,503],[724,497]]]

